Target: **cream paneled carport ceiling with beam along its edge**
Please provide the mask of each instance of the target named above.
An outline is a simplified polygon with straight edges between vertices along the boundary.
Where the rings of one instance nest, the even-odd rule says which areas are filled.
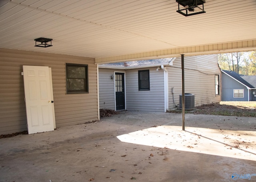
[[[206,0],[182,16],[176,0],[0,0],[0,48],[96,58],[96,63],[256,50],[255,0]],[[52,47],[34,47],[51,38]]]

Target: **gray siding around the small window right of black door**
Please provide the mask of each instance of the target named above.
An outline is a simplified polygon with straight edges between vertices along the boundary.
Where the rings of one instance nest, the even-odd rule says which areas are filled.
[[[126,70],[126,108],[164,112],[164,71],[157,67]],[[138,70],[150,70],[150,90],[138,90]]]

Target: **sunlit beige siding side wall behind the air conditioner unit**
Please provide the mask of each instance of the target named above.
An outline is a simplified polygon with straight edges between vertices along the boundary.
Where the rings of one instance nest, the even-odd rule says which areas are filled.
[[[215,95],[215,74],[220,74],[217,55],[202,55],[184,57],[185,93],[195,95],[195,106],[220,102],[220,96]],[[168,67],[169,108],[179,104],[182,93],[181,58],[176,58],[173,66]],[[174,103],[171,92],[174,88]]]

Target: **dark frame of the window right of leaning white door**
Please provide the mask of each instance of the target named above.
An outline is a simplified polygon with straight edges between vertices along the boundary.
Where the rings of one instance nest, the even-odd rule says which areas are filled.
[[[69,67],[78,67],[78,68],[84,68],[84,78],[83,77],[76,77],[72,78],[68,74],[68,68]],[[83,80],[84,89],[70,89],[69,86],[69,81],[71,79],[80,79]],[[73,64],[73,63],[66,63],[66,94],[82,94],[82,93],[89,93],[89,84],[88,84],[88,65],[83,65],[83,64]]]

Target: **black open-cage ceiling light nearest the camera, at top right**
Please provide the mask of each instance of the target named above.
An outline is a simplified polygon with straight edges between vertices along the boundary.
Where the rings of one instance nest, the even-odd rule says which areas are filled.
[[[176,0],[176,2],[178,2],[178,10],[176,12],[184,16],[206,13],[204,11],[205,0]],[[183,7],[180,8],[180,5]]]

